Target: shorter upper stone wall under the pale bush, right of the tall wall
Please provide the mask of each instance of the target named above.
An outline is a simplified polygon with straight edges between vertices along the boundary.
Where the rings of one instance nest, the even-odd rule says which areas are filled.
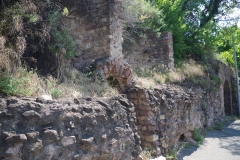
[[[163,32],[160,37],[155,32],[146,32],[144,34],[144,37],[135,40],[135,44],[126,44],[128,42],[125,42],[123,48],[124,60],[133,69],[149,66],[173,69],[172,34]]]

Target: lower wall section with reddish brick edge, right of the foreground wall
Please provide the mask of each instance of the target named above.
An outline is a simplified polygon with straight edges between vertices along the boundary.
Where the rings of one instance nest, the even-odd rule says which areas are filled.
[[[219,90],[220,91],[220,90]],[[220,92],[206,93],[174,85],[154,90],[135,87],[127,97],[134,104],[143,148],[166,153],[180,137],[192,140],[194,128],[211,126],[224,116]]]

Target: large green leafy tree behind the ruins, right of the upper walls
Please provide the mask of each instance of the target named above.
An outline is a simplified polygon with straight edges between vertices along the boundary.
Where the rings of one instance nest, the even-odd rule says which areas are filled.
[[[237,0],[151,0],[162,10],[166,24],[159,31],[173,34],[176,62],[187,57],[202,59],[213,46],[217,22],[236,7]]]

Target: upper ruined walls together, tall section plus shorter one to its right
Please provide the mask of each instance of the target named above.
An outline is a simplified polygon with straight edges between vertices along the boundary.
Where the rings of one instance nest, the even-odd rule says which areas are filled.
[[[65,4],[69,10],[73,7]],[[122,49],[122,1],[97,0],[92,17],[73,12],[64,18],[66,28],[80,46],[73,65],[82,69],[92,60],[123,58],[132,68],[160,65],[174,68],[173,42],[169,32],[146,32],[146,37],[136,40],[133,48]],[[93,7],[94,8],[94,7]]]

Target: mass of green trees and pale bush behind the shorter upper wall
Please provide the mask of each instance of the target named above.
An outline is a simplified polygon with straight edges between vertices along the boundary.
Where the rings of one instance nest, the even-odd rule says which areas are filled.
[[[237,7],[235,0],[134,0],[126,4],[127,15],[135,17],[131,21],[135,25],[127,25],[127,31],[137,35],[146,28],[156,32],[172,32],[176,64],[188,58],[205,61],[209,55],[233,64],[232,36],[238,45],[239,29],[236,25],[222,27],[218,22]],[[229,19],[227,22],[237,23],[237,19],[234,23],[232,18]],[[124,38],[129,39],[128,36]]]

